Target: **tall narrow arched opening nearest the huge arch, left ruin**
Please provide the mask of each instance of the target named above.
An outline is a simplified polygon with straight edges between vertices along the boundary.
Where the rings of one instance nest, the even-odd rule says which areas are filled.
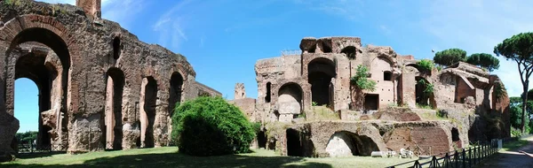
[[[106,149],[122,149],[123,146],[123,87],[124,73],[121,69],[111,67],[107,70],[105,131]]]

